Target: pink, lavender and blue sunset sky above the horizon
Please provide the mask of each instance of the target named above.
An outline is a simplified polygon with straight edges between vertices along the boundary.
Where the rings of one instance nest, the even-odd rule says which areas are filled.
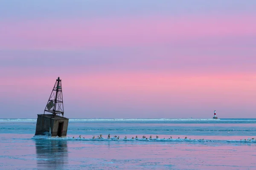
[[[256,118],[256,0],[2,0],[0,118]]]

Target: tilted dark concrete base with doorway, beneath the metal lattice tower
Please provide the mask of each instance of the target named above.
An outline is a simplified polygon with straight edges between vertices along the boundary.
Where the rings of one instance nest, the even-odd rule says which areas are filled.
[[[57,115],[53,117],[53,114],[38,114],[35,135],[43,135],[44,132],[49,132],[52,137],[66,137],[67,126],[68,119],[65,117]]]

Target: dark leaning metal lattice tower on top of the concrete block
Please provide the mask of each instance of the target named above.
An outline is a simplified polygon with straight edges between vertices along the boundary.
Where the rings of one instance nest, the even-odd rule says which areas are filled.
[[[53,116],[55,116],[56,114],[62,114],[62,116],[64,116],[62,86],[60,77],[56,79],[55,85],[52,89],[52,93],[44,109],[44,113],[46,111],[52,113]]]

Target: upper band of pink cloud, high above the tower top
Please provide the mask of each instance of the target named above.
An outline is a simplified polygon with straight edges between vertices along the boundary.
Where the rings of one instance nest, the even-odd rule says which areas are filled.
[[[256,36],[254,16],[162,16],[1,22],[2,49],[189,44]],[[207,39],[208,40],[207,40]],[[232,42],[232,40],[230,41]]]

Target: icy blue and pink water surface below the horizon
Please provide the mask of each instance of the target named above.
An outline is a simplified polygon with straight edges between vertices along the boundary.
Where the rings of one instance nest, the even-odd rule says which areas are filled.
[[[33,119],[0,119],[0,169],[256,169],[256,142],[240,142],[256,137],[256,119],[71,119],[68,136],[75,139],[69,140],[32,139],[35,125]],[[122,140],[91,139],[109,133]],[[76,140],[79,135],[85,139]],[[136,135],[173,141],[131,141]],[[175,141],[185,136],[206,140]]]

